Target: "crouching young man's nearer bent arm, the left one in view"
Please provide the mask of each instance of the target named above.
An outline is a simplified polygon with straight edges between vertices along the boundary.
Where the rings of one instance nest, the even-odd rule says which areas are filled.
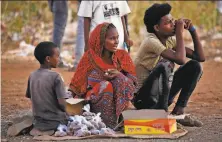
[[[183,30],[184,22],[182,19],[179,19],[176,23],[176,48],[175,51],[172,49],[166,49],[161,53],[161,56],[169,59],[179,65],[185,64],[186,60],[186,50],[183,40]]]

